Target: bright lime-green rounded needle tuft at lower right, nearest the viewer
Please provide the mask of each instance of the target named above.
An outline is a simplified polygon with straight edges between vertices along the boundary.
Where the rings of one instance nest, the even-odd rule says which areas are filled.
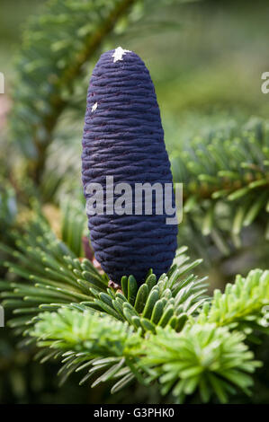
[[[209,401],[214,392],[225,403],[235,387],[249,393],[249,374],[261,365],[244,339],[242,333],[209,323],[187,326],[180,336],[157,330],[157,336],[148,339],[141,365],[150,380],[158,378],[163,394],[173,389],[179,402],[199,389],[202,401]]]

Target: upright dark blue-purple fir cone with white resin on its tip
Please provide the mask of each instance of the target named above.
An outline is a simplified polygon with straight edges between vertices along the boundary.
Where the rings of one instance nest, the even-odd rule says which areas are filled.
[[[114,186],[124,182],[132,188],[135,183],[173,183],[148,69],[138,55],[121,47],[100,57],[87,92],[82,153],[86,199],[93,198],[86,189],[89,183],[102,185],[107,198],[107,176],[113,176]],[[174,192],[172,199],[175,205]],[[153,210],[156,202],[153,195]],[[88,215],[88,227],[95,258],[112,281],[133,275],[141,284],[149,268],[157,277],[167,272],[175,257],[177,225],[166,224],[166,213],[147,215],[143,207],[142,215],[136,215],[134,205],[131,215],[111,215],[105,205],[103,209],[103,215]]]

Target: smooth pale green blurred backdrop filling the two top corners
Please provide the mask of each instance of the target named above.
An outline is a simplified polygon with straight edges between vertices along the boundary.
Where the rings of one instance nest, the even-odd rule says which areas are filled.
[[[1,0],[0,64],[7,95],[23,26],[43,3]],[[170,3],[160,2],[121,35],[122,22],[114,36],[115,45],[136,51],[150,69],[168,150],[227,122],[267,117],[269,101],[260,86],[268,64],[268,2]]]

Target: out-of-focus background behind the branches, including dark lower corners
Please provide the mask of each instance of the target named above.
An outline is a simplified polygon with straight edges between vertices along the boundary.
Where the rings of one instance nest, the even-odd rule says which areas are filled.
[[[6,162],[21,160],[19,151],[8,153],[9,145],[13,143],[7,116],[13,107],[14,57],[20,51],[26,22],[31,15],[41,13],[44,3],[44,0],[1,0],[0,4],[0,71],[5,76],[5,93],[0,94],[0,148]],[[127,27],[122,19],[98,54],[121,45],[143,58],[156,86],[170,156],[178,145],[186,145],[195,136],[209,136],[216,131],[229,133],[248,121],[267,119],[269,95],[261,92],[261,75],[269,71],[268,2],[156,1],[154,7],[152,3],[145,3],[146,13],[141,14],[137,22],[129,22]],[[59,119],[53,145],[49,147],[52,167],[57,163],[62,174],[69,176],[66,186],[63,183],[59,189],[59,200],[68,191],[80,189],[85,87],[94,60],[87,66],[84,81],[77,84],[74,99]],[[4,168],[1,173],[4,174]],[[4,178],[1,180],[5,182]],[[11,214],[15,214],[12,197],[9,206]],[[45,212],[57,231],[57,201],[48,201]],[[257,228],[255,235],[250,233],[249,242],[255,245],[257,239],[260,241],[261,232],[262,228]],[[1,235],[4,237],[4,232]],[[215,255],[211,254],[211,257],[203,257],[211,289],[224,286],[229,277],[238,271],[247,271],[247,267],[252,268],[256,263],[265,268],[267,250],[267,244],[262,242],[257,249],[240,251],[238,256],[223,258],[216,254],[214,259]],[[202,253],[206,254],[206,251]],[[132,402],[159,400],[158,391],[150,391],[148,396],[149,392],[141,388],[110,397],[105,387],[96,390],[89,386],[78,387],[76,376],[58,388],[57,365],[34,363],[32,352],[18,349],[17,340],[8,329],[0,330],[0,336],[2,403],[121,403],[130,402],[130,395]],[[265,358],[266,345],[257,347],[256,352]],[[269,402],[267,373],[265,365],[256,379],[253,402]],[[247,401],[245,397],[235,400]]]

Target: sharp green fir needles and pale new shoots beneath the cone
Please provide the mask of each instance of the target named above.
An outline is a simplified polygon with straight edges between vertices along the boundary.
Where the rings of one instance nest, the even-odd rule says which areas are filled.
[[[76,258],[41,215],[13,237],[15,251],[1,245],[15,259],[5,265],[24,281],[1,282],[4,307],[14,308],[9,324],[24,334],[22,344],[37,342],[41,362],[61,358],[61,382],[87,370],[81,383],[101,372],[93,386],[112,381],[112,392],[158,380],[175,402],[197,389],[204,401],[216,393],[226,402],[237,388],[249,393],[261,363],[244,340],[267,331],[268,271],[238,276],[211,298],[205,279],[190,274],[200,260],[188,263],[181,248],[167,275],[157,280],[149,271],[140,287],[122,277],[120,288],[89,259]]]

